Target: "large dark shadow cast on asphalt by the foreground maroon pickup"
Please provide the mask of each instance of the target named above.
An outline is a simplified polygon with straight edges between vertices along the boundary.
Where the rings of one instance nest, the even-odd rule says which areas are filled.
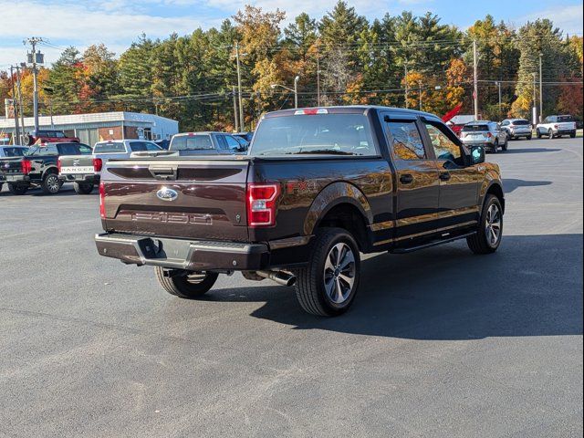
[[[360,292],[338,318],[318,318],[292,288],[212,291],[213,301],[265,301],[252,316],[294,326],[403,339],[582,334],[582,235],[507,235],[495,255],[464,242],[362,262]]]

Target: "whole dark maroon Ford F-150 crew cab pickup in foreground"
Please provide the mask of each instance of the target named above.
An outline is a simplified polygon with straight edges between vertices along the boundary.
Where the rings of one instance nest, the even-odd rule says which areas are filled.
[[[408,253],[466,239],[501,243],[496,164],[438,117],[354,106],[260,120],[245,156],[110,161],[99,186],[100,255],[156,266],[162,287],[199,297],[219,274],[295,285],[333,316],[360,284],[360,253]]]

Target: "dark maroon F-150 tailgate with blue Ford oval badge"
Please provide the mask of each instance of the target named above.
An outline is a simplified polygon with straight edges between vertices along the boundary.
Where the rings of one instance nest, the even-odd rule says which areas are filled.
[[[102,172],[108,232],[247,242],[248,162],[112,160]]]

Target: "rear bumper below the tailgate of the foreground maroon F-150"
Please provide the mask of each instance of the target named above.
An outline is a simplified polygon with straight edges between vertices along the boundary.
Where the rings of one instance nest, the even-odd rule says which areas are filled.
[[[99,255],[138,266],[162,266],[190,271],[258,270],[269,266],[267,245],[191,241],[106,233],[95,236]]]

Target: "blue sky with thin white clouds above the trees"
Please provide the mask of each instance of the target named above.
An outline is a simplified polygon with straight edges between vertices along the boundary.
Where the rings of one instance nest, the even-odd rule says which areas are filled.
[[[330,10],[336,0],[0,0],[0,69],[24,60],[26,47],[22,40],[28,36],[47,38],[51,47],[42,47],[47,63],[54,62],[61,47],[79,49],[104,43],[120,54],[142,32],[152,38],[172,32],[188,34],[201,26],[218,26],[224,18],[233,16],[246,3],[265,10],[276,7],[287,12],[290,21],[301,12],[320,17]],[[416,14],[431,11],[443,23],[466,28],[486,14],[521,26],[527,20],[548,17],[569,34],[582,35],[582,2],[559,0],[354,0],[349,2],[357,12],[368,18],[400,14],[411,10]]]

